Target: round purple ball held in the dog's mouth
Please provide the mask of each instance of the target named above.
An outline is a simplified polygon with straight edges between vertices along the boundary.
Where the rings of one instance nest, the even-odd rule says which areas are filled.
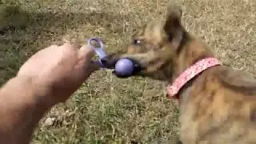
[[[121,76],[130,76],[134,71],[134,62],[128,58],[119,59],[115,64],[115,73]]]

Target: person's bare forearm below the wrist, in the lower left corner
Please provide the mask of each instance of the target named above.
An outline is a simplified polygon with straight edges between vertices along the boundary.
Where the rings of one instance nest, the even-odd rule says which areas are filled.
[[[24,78],[12,78],[0,90],[0,143],[29,143],[34,128],[51,105],[44,90]]]

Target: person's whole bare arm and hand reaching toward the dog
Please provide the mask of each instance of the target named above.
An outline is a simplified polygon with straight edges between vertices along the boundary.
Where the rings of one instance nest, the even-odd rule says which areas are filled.
[[[43,115],[99,70],[93,56],[91,46],[65,43],[30,57],[0,89],[0,143],[30,143]]]

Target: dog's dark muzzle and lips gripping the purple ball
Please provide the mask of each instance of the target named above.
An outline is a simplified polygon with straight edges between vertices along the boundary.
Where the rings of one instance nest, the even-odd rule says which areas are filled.
[[[112,73],[118,77],[118,78],[129,78],[131,76],[136,76],[136,75],[142,75],[141,71],[144,69],[143,66],[141,65],[140,62],[134,60],[133,58],[127,58],[131,62],[134,63],[134,70],[132,71],[131,74],[118,74],[115,69],[115,65],[120,60],[120,58],[114,58],[111,55],[106,56],[105,58],[101,59],[102,65],[106,67],[107,69],[113,70]]]

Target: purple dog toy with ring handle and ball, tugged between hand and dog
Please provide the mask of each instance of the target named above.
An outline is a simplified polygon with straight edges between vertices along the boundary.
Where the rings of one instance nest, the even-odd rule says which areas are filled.
[[[104,45],[102,40],[99,38],[90,38],[87,42],[87,45],[90,45],[92,41],[98,42],[99,46],[94,46],[94,51],[99,57],[100,66],[106,68],[102,63],[101,59],[107,56],[106,52],[103,50]],[[118,76],[130,76],[134,72],[134,62],[132,62],[129,58],[121,58],[114,66],[115,74]]]

